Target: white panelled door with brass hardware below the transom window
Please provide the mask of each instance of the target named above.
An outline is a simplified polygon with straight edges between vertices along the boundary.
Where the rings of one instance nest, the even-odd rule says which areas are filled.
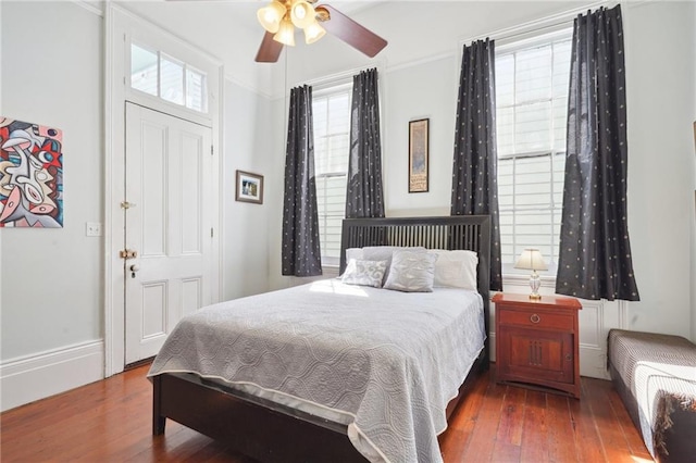
[[[126,103],[125,361],[211,302],[211,129]]]

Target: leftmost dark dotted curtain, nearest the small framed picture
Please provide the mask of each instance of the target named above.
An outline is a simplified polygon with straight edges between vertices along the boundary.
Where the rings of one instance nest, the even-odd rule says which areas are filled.
[[[290,91],[282,255],[283,275],[322,274],[314,180],[312,88],[307,85]]]

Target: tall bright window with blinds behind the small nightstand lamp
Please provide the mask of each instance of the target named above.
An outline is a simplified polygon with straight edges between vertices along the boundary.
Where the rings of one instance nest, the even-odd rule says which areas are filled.
[[[524,248],[558,262],[572,30],[496,51],[502,271]]]

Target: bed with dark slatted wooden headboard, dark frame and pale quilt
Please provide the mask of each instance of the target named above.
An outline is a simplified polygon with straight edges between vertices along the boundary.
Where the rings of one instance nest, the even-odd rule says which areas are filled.
[[[344,221],[341,273],[348,249],[470,250],[477,291],[326,279],[201,309],[150,371],[153,434],[169,417],[260,461],[442,460],[436,435],[488,366],[489,235],[487,216]]]

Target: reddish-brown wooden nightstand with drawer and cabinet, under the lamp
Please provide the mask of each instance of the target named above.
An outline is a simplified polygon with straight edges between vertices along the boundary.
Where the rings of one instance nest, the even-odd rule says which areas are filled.
[[[580,399],[577,299],[499,292],[493,302],[497,381],[543,386]]]

